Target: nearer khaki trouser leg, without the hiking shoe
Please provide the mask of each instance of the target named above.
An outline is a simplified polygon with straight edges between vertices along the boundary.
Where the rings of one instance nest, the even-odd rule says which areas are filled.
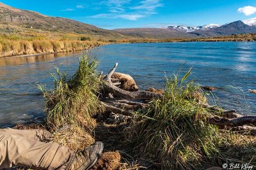
[[[0,134],[0,169],[13,166],[65,169],[73,152],[57,143],[42,143],[13,134]]]

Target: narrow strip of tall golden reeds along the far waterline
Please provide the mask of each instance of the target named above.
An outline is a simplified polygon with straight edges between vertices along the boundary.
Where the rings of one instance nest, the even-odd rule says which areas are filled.
[[[108,45],[109,43],[178,43],[178,42],[238,42],[256,41],[256,34],[237,34],[214,38],[175,38],[175,39],[149,39],[128,38],[115,41],[81,41],[74,39],[19,39],[0,38],[0,57],[26,56],[35,54],[47,54],[57,52],[76,52],[93,48],[94,46]]]

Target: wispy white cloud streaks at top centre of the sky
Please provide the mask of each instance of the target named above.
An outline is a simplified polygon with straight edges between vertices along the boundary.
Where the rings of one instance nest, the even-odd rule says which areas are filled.
[[[134,3],[136,3],[134,5]],[[156,14],[156,8],[163,6],[161,0],[143,0],[138,3],[135,0],[107,0],[99,5],[108,6],[109,13],[93,15],[93,18],[122,18],[125,20],[138,20]],[[132,5],[133,3],[133,5]]]

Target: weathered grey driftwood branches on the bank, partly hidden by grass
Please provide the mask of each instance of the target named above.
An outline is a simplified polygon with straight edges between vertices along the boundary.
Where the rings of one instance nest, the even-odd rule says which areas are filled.
[[[157,92],[131,92],[119,88],[118,85],[120,83],[116,82],[116,80],[111,81],[111,76],[117,66],[118,64],[116,63],[106,76],[102,76],[104,80],[104,94],[107,97],[101,97],[100,102],[104,106],[105,111],[129,116],[132,111],[137,111],[147,106],[147,100],[163,97],[163,94]],[[211,117],[207,118],[210,124],[218,125],[220,129],[228,128],[233,131],[248,131],[256,134],[256,116],[239,115],[235,110],[227,111],[207,104],[204,104],[204,107],[208,108],[212,113]]]

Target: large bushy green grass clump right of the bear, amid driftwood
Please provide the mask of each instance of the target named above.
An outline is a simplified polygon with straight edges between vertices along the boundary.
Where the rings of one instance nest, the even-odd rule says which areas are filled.
[[[180,80],[179,74],[166,78],[163,97],[135,113],[134,123],[125,129],[138,157],[162,169],[202,168],[205,157],[220,152],[218,128],[205,123],[204,94],[193,81],[185,83],[190,73]]]

